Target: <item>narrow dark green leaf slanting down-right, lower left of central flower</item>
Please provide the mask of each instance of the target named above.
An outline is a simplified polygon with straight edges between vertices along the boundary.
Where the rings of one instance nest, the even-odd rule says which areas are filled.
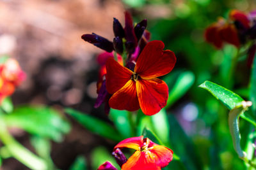
[[[68,113],[71,117],[77,120],[81,125],[83,125],[89,131],[98,134],[102,137],[112,139],[113,141],[120,141],[122,137],[119,132],[110,125],[98,118],[86,115],[79,111],[73,110],[71,108],[66,108],[65,112]]]

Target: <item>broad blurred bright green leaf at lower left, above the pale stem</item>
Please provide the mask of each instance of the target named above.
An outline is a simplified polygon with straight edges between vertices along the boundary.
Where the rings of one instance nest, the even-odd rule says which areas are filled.
[[[61,141],[63,134],[70,131],[70,124],[56,110],[42,106],[20,106],[6,115],[4,122],[54,141]]]

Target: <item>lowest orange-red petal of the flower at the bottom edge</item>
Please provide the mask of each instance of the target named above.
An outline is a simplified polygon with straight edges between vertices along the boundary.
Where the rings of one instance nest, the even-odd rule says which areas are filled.
[[[157,166],[154,162],[154,158],[151,157],[149,152],[136,151],[133,155],[123,164],[122,170],[161,170],[161,167]]]

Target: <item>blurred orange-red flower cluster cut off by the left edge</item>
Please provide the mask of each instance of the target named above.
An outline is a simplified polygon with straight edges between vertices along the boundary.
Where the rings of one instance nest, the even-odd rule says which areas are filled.
[[[15,88],[26,78],[19,63],[15,59],[8,59],[0,64],[0,103],[15,91]]]

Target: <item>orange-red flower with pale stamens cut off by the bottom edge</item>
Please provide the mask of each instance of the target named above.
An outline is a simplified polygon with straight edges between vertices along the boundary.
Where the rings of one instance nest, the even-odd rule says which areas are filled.
[[[143,136],[124,139],[118,143],[117,148],[132,148],[136,150],[122,165],[122,170],[148,169],[157,170],[167,166],[173,159],[173,151],[165,146],[157,145]]]

